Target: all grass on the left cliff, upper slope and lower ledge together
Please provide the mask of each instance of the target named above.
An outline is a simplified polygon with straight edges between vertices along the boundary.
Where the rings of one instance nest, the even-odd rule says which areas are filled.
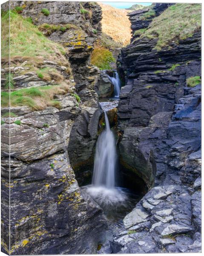
[[[43,109],[47,106],[60,107],[60,102],[54,99],[56,94],[65,94],[70,91],[73,84],[66,80],[59,70],[55,67],[45,67],[43,61],[55,61],[65,67],[65,73],[70,74],[71,68],[69,61],[65,57],[66,48],[55,42],[49,41],[37,26],[32,24],[30,18],[23,18],[15,10],[10,11],[11,35],[6,33],[9,19],[9,11],[3,12],[2,21],[2,61],[3,65],[8,65],[6,49],[10,40],[11,65],[21,65],[25,70],[17,71],[18,75],[28,72],[36,73],[43,81],[52,81],[50,86],[31,87],[16,90],[10,93],[11,106],[29,106],[32,109]],[[29,71],[28,71],[29,70]],[[15,75],[16,76],[16,75]],[[12,73],[5,74],[4,88],[14,88],[15,81]],[[1,93],[2,107],[9,106],[9,93]]]

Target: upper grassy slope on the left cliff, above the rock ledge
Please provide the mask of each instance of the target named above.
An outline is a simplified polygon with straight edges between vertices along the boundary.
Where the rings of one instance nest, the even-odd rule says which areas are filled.
[[[1,16],[2,37],[1,37],[1,56],[7,58],[9,41],[11,44],[11,62],[13,58],[24,57],[32,59],[34,57],[46,58],[46,60],[61,61],[67,63],[63,55],[67,50],[60,44],[49,41],[36,26],[31,23],[30,18],[23,18],[14,11],[10,11],[11,38],[8,35],[9,11]]]

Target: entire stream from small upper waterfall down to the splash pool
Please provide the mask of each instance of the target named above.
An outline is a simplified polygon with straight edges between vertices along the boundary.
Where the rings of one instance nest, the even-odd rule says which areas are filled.
[[[108,76],[108,75],[107,75]],[[125,215],[139,201],[139,196],[129,189],[119,186],[118,155],[114,131],[110,128],[107,111],[118,106],[120,79],[115,72],[114,77],[108,76],[114,85],[112,98],[102,99],[100,106],[104,112],[105,129],[101,132],[96,143],[92,183],[83,189],[101,206],[106,217],[122,224]]]

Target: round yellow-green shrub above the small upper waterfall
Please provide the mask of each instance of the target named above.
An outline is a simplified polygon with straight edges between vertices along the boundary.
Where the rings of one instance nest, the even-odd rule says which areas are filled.
[[[115,58],[108,49],[96,46],[91,54],[91,64],[99,67],[101,70],[111,69],[110,63],[115,62]]]

